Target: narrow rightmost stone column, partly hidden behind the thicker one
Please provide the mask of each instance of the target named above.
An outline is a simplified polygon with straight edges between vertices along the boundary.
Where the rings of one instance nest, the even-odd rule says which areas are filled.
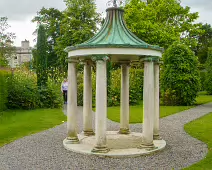
[[[159,119],[160,119],[160,98],[159,98],[159,73],[160,73],[160,66],[159,62],[155,62],[154,65],[154,77],[155,77],[155,113],[154,113],[154,134],[153,139],[159,140]]]

